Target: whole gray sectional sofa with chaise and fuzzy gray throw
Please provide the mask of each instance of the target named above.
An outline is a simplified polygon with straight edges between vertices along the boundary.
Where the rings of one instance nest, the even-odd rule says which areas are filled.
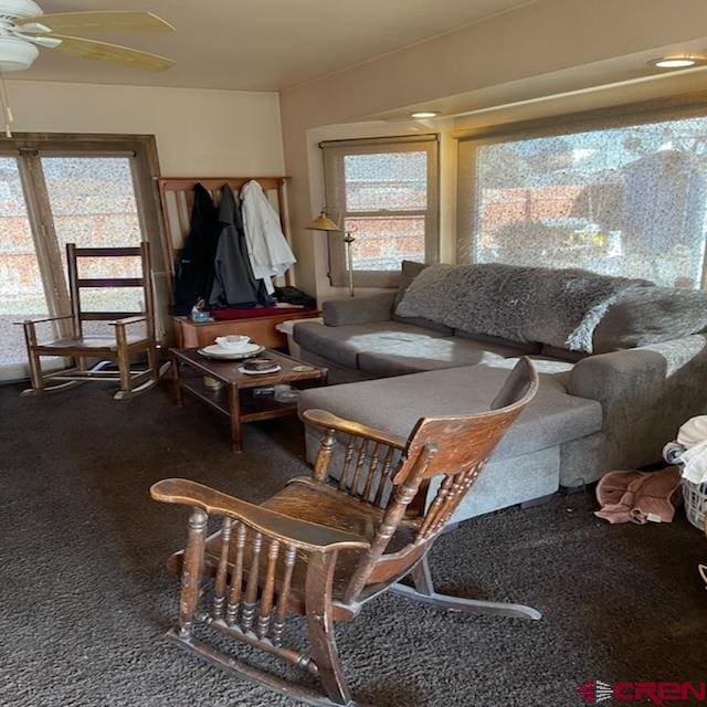
[[[529,296],[536,283],[541,295]],[[327,302],[324,324],[296,325],[302,358],[334,383],[304,392],[300,413],[321,408],[407,435],[424,415],[487,410],[529,356],[539,393],[463,520],[659,461],[678,426],[707,412],[706,328],[703,292],[583,271],[405,263],[398,292]],[[306,433],[313,461],[319,436]]]

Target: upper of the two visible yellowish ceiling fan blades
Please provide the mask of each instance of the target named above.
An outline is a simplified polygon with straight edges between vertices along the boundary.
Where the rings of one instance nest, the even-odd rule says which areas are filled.
[[[43,24],[56,32],[173,32],[175,28],[151,12],[55,12],[15,20],[18,27]]]

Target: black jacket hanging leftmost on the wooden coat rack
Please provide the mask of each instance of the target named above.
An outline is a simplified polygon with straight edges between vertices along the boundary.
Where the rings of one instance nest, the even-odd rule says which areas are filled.
[[[209,299],[213,285],[213,261],[219,242],[218,210],[209,191],[194,187],[191,228],[177,261],[175,314],[188,315],[200,299]]]

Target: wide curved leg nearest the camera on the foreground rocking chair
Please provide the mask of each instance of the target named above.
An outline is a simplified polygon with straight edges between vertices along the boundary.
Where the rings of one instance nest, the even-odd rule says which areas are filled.
[[[306,605],[307,632],[312,656],[319,668],[319,679],[335,705],[352,705],[336,647],[331,615],[331,581],[336,555],[313,558],[307,570]]]

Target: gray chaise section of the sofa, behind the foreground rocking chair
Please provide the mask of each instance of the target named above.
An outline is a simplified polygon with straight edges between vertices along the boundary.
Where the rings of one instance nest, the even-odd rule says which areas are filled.
[[[466,366],[312,389],[302,393],[299,413],[319,408],[408,436],[424,415],[488,410],[515,362],[507,360],[503,366]],[[542,383],[536,399],[504,437],[479,477],[478,486],[457,511],[456,520],[555,493],[560,483],[562,445],[601,430],[601,404],[568,394],[563,370],[540,376]],[[319,432],[307,428],[310,462],[319,442]],[[342,454],[341,445],[337,453]]]

